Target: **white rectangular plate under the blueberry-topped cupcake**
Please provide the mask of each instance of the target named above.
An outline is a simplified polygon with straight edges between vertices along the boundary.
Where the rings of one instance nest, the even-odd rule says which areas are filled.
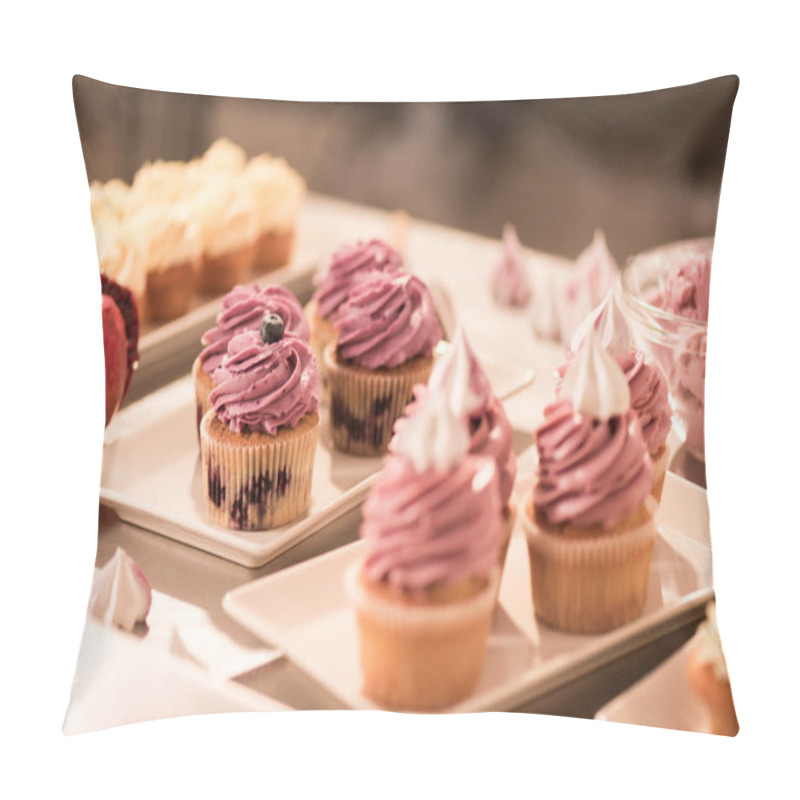
[[[484,363],[498,397],[533,380],[530,370]],[[380,458],[335,451],[323,410],[314,460],[311,505],[279,528],[240,532],[206,517],[191,375],[120,411],[106,429],[100,500],[133,525],[256,568],[357,506],[381,466]]]

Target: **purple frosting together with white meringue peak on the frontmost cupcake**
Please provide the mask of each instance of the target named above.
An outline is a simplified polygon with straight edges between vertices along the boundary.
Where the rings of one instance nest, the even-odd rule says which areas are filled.
[[[370,580],[413,595],[489,576],[502,535],[497,472],[468,447],[441,395],[408,420],[364,503],[360,535]]]

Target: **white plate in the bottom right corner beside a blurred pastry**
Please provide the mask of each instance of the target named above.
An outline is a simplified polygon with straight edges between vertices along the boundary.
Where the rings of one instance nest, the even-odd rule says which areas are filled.
[[[703,704],[689,686],[687,669],[694,641],[688,641],[663,664],[595,714],[606,722],[709,733]]]

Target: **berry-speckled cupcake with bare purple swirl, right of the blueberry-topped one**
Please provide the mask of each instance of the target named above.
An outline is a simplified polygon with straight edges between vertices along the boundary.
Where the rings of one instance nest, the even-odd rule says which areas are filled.
[[[433,301],[419,278],[374,271],[351,288],[336,328],[323,354],[333,445],[383,455],[414,386],[427,383],[433,369],[442,336]]]

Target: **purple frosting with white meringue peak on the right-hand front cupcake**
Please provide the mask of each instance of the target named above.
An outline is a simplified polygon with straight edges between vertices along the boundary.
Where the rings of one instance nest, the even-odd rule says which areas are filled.
[[[653,465],[624,373],[591,328],[536,430],[535,512],[545,524],[610,529],[650,493]]]

